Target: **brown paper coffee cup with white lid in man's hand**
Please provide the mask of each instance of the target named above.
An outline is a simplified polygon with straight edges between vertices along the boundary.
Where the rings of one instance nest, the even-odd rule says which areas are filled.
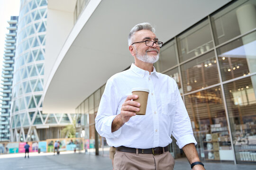
[[[146,114],[148,93],[149,93],[149,89],[147,89],[147,88],[133,88],[132,89],[132,94],[138,95],[138,98],[133,101],[140,103],[139,111],[135,112],[137,115],[145,115]]]

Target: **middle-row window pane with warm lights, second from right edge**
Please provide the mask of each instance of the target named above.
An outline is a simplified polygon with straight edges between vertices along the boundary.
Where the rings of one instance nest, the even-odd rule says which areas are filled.
[[[181,66],[184,93],[219,83],[214,52],[211,51]]]

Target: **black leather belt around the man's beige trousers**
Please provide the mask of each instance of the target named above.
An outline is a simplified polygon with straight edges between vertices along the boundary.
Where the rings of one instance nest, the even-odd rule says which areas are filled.
[[[138,153],[149,153],[153,155],[162,154],[169,151],[169,145],[165,147],[155,147],[155,148],[149,148],[149,149],[138,149]],[[136,148],[130,148],[125,146],[119,146],[117,147],[117,151],[121,152],[130,152],[130,153],[136,153]]]

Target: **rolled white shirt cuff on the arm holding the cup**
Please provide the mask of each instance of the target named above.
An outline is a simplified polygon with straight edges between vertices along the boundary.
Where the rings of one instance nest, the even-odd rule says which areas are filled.
[[[120,127],[118,130],[112,132],[112,122],[116,118],[117,115],[110,116],[108,119],[103,121],[103,125],[101,127],[101,131],[106,134],[104,137],[108,138],[114,138],[114,137],[119,137],[121,134],[121,128]]]

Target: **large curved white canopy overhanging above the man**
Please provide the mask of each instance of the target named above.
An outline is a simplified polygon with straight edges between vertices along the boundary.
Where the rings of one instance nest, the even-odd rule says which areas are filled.
[[[98,0],[95,10],[92,1],[50,68],[44,113],[74,113],[110,76],[128,68],[134,59],[127,37],[136,24],[151,23],[167,42],[230,0]]]

